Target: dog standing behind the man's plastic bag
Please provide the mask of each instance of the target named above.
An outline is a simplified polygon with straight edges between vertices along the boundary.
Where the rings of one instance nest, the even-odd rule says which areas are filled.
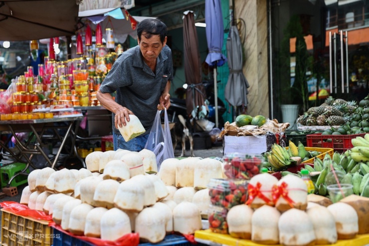
[[[186,145],[185,141],[188,139],[190,151],[190,156],[194,157],[193,154],[193,138],[192,138],[192,125],[184,119],[182,115],[178,115],[180,122],[176,122],[171,130],[173,151],[176,150],[177,143],[182,142],[182,154],[180,157],[184,157]]]

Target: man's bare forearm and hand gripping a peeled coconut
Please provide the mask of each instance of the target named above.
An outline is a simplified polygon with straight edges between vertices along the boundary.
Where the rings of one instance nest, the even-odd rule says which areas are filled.
[[[132,113],[131,110],[129,110],[126,107],[123,107],[116,103],[113,100],[113,97],[110,95],[110,93],[102,93],[100,90],[96,93],[96,98],[99,100],[100,104],[104,106],[104,108],[110,110],[115,114],[114,118],[114,124],[115,128],[118,128],[118,125],[122,127],[122,125],[126,125],[126,119],[127,121],[130,121],[130,114]]]

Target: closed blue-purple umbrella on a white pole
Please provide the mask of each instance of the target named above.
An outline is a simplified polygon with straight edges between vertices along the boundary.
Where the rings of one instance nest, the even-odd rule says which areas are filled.
[[[215,127],[218,127],[216,66],[221,66],[227,62],[227,58],[221,52],[224,29],[220,0],[205,0],[205,23],[207,47],[209,49],[205,61],[207,64],[214,67]]]

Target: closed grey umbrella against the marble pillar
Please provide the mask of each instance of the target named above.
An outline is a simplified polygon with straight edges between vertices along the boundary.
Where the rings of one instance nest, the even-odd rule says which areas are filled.
[[[242,72],[242,47],[237,27],[232,25],[227,38],[229,77],[224,89],[225,100],[233,106],[247,106],[247,88]]]

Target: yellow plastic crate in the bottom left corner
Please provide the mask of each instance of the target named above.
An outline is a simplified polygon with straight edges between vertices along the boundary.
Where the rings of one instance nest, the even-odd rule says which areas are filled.
[[[52,245],[53,234],[48,221],[1,211],[1,246]]]

